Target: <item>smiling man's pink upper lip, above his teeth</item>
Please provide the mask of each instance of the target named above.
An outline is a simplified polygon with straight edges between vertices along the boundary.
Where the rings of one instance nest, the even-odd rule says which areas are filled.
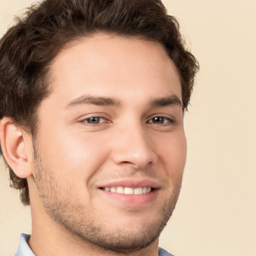
[[[116,179],[111,180],[106,183],[100,184],[97,187],[117,187],[117,186],[123,186],[123,187],[144,187],[144,186],[150,186],[152,188],[159,188],[159,182],[151,180],[151,179]]]

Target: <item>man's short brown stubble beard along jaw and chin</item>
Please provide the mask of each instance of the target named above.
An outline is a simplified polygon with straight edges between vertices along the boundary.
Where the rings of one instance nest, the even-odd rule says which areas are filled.
[[[64,227],[71,236],[77,237],[85,244],[96,246],[98,250],[129,254],[147,247],[159,237],[175,208],[181,180],[159,208],[159,217],[150,224],[140,225],[131,230],[128,225],[110,226],[108,221],[102,221],[102,215],[101,218],[100,214],[86,215],[84,212],[86,206],[75,204],[75,198],[68,199],[69,189],[72,187],[61,186],[58,178],[53,175],[54,170],[43,164],[40,155],[37,153],[34,155],[36,155],[33,162],[34,181],[44,211],[52,220]],[[103,212],[104,209],[101,214]]]

